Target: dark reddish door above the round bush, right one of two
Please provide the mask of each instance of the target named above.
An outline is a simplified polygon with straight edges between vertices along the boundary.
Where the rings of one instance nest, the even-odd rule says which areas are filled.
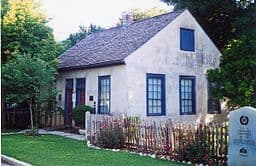
[[[76,79],[76,105],[85,104],[85,78]]]

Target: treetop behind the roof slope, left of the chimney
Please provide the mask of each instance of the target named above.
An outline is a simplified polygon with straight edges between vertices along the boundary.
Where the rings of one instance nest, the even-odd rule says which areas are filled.
[[[62,41],[61,43],[62,43],[64,49],[67,50],[68,48],[70,48],[70,47],[74,46],[75,44],[77,44],[78,42],[80,42],[86,36],[88,36],[92,33],[95,33],[95,32],[99,32],[103,29],[104,28],[102,28],[101,26],[97,26],[97,25],[93,25],[93,24],[90,24],[89,27],[80,25],[79,32],[70,34],[69,37],[66,40]]]

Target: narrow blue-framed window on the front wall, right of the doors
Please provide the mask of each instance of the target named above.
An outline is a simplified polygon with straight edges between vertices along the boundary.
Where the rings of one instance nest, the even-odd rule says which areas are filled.
[[[110,113],[110,76],[99,77],[98,113]]]

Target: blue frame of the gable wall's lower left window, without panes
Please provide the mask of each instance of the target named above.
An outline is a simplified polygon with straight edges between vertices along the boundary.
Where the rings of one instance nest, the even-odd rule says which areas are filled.
[[[161,79],[161,113],[150,113],[149,112],[149,87],[148,81],[149,79]],[[165,74],[153,74],[147,73],[146,74],[146,110],[147,116],[165,116],[166,115],[166,88],[165,88]]]

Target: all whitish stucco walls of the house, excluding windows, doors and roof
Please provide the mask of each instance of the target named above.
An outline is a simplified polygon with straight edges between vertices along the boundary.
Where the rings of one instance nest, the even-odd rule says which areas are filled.
[[[195,31],[195,52],[180,50],[180,28]],[[98,76],[111,75],[112,114],[139,116],[143,119],[169,119],[173,122],[209,122],[223,115],[207,114],[206,71],[219,65],[221,53],[188,10],[125,59],[126,65],[62,72],[57,78],[61,94],[58,104],[64,108],[65,80],[86,78],[85,104],[98,104]],[[165,74],[166,116],[146,116],[146,74]],[[180,115],[179,76],[196,77],[196,115]],[[74,81],[75,92],[75,81]],[[58,97],[57,97],[58,100]],[[73,104],[74,105],[74,104]],[[97,106],[96,106],[97,108]]]

